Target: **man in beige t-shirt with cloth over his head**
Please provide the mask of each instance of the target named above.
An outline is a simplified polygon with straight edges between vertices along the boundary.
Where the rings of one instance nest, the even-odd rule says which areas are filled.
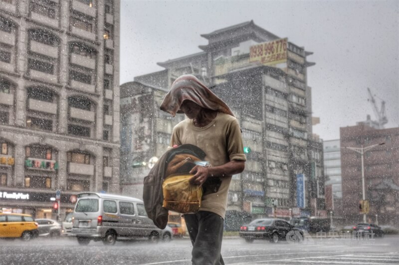
[[[190,172],[194,174],[190,181],[203,188],[200,210],[184,215],[193,244],[193,265],[224,265],[220,249],[228,186],[246,161],[238,121],[227,104],[192,75],[172,84],[161,110],[188,117],[174,127],[170,146],[196,145],[211,165],[196,166]]]

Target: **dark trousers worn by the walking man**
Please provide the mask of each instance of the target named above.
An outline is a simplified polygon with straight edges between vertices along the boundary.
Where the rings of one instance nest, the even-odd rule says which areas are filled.
[[[199,211],[185,214],[184,219],[193,244],[193,265],[224,265],[220,254],[223,218],[212,212]]]

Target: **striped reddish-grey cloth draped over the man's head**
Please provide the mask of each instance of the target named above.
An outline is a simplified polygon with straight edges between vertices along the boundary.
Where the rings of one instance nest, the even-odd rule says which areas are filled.
[[[173,82],[160,109],[172,116],[175,116],[176,113],[184,113],[180,110],[184,100],[191,100],[203,108],[224,112],[234,117],[227,104],[193,75],[183,75]]]

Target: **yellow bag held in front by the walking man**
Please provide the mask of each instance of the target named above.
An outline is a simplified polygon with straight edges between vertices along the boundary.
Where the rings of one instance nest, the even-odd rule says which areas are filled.
[[[198,212],[201,205],[202,187],[189,182],[194,175],[171,176],[164,180],[163,207],[179,213]]]

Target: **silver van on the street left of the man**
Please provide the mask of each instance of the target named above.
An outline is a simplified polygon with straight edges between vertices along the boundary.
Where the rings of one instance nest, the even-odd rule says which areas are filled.
[[[147,217],[140,199],[105,193],[77,195],[72,219],[72,234],[80,245],[102,240],[113,245],[116,240],[150,239],[157,241],[162,230]]]

